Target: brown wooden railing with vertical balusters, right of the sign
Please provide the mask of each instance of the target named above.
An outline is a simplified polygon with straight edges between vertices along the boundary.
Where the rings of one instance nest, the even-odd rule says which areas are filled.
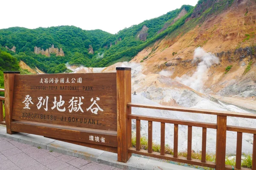
[[[151,156],[159,159],[167,159],[171,161],[177,161],[186,164],[193,164],[198,166],[215,168],[216,170],[247,170],[247,168],[241,167],[241,149],[242,149],[242,134],[251,133],[253,134],[253,160],[252,160],[252,170],[256,170],[256,128],[249,127],[237,127],[227,125],[227,116],[240,117],[240,118],[250,118],[256,119],[256,114],[252,113],[236,113],[227,111],[210,111],[204,109],[195,108],[180,108],[180,107],[169,107],[169,106],[151,106],[151,105],[141,105],[128,103],[129,107],[137,108],[149,108],[149,109],[160,109],[167,111],[182,111],[189,113],[202,113],[217,115],[217,123],[205,123],[205,122],[193,122],[186,120],[176,120],[176,119],[166,119],[152,116],[141,116],[135,114],[128,114],[128,119],[136,120],[136,149],[128,148],[129,153],[136,153],[144,156]],[[148,150],[140,149],[140,121],[148,121]],[[131,121],[128,121],[131,123]],[[161,123],[161,136],[160,136],[160,153],[152,152],[152,122]],[[174,124],[174,148],[173,155],[165,154],[165,125],[166,123]],[[179,125],[188,126],[188,143],[187,143],[187,157],[178,156],[178,128]],[[201,160],[192,159],[192,127],[202,127],[202,151]],[[206,139],[207,139],[207,128],[216,129],[216,158],[215,162],[206,161]],[[237,132],[237,142],[236,142],[236,167],[226,165],[226,134],[228,131]],[[248,169],[249,170],[249,169]]]

